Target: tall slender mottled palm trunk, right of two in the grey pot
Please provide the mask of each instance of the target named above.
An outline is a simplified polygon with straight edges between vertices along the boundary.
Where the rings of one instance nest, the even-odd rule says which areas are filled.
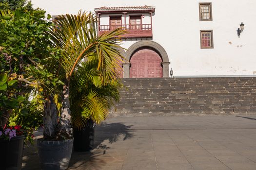
[[[60,130],[65,133],[68,137],[72,137],[71,129],[71,112],[70,112],[70,102],[69,102],[69,80],[63,85],[63,100],[61,109],[61,119],[60,119]]]

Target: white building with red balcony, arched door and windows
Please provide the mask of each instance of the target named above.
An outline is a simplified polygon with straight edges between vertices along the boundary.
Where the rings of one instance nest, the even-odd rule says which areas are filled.
[[[124,77],[256,75],[256,0],[32,0],[52,16],[95,12],[125,27]],[[238,37],[241,22],[244,30]]]

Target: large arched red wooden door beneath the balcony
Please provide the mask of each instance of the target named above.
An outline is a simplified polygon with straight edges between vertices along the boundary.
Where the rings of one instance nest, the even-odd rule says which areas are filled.
[[[130,77],[163,77],[162,59],[156,51],[141,49],[134,53],[130,63]]]

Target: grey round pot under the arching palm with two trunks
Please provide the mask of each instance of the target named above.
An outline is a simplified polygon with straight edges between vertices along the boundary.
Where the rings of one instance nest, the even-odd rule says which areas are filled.
[[[44,141],[38,139],[39,162],[42,170],[66,170],[69,165],[73,139]]]

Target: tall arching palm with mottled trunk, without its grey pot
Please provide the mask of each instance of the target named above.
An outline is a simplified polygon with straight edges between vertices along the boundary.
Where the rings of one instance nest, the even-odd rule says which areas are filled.
[[[126,31],[117,29],[107,34],[97,35],[97,17],[91,13],[59,16],[49,34],[53,45],[62,50],[60,64],[64,73],[62,108],[59,132],[72,136],[69,102],[70,81],[84,58],[95,55],[101,83],[115,80],[115,68],[122,56],[118,51],[120,36]],[[93,95],[94,93],[91,93]]]

